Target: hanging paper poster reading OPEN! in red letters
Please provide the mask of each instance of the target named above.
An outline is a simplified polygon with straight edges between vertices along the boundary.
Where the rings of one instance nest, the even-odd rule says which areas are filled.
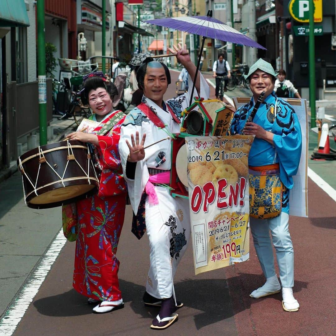
[[[249,259],[248,154],[253,139],[185,138],[195,274]]]

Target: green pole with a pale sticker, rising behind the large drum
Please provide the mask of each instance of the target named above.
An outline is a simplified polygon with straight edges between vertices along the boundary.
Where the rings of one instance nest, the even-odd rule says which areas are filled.
[[[37,0],[37,72],[39,92],[40,146],[47,144],[47,82],[45,76],[44,0]]]

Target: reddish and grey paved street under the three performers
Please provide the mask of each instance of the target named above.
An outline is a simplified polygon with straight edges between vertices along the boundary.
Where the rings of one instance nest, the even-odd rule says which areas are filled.
[[[175,93],[178,72],[172,71],[171,75],[172,84],[165,98]],[[246,92],[236,89],[226,93],[243,96]],[[214,98],[213,87],[211,97]],[[62,123],[55,122],[60,129],[58,135],[64,132],[62,129],[72,127],[71,121]],[[316,146],[317,134],[309,132],[309,154]],[[161,334],[336,334],[336,178],[332,175],[336,161],[309,160],[308,166],[309,218],[290,218],[295,250],[294,292],[300,303],[299,311],[283,311],[280,294],[258,300],[249,297],[264,282],[251,237],[249,261],[198,276],[194,273],[190,243],[175,277],[176,296],[184,302],[184,307],[177,311],[178,321]],[[320,187],[323,182],[314,172],[328,185]],[[118,246],[125,308],[92,314],[86,298],[72,288],[75,243],[65,243],[64,237],[58,235],[60,208],[26,207],[18,172],[0,183],[0,190],[0,335],[11,335],[16,325],[16,336],[158,333],[149,328],[158,309],[146,308],[142,302],[149,268],[148,238],[144,236],[138,241],[130,232],[129,206]]]

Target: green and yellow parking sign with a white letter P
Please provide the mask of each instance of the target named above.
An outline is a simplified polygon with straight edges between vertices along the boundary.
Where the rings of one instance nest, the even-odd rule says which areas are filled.
[[[288,10],[294,20],[309,22],[309,0],[290,0]],[[314,0],[314,22],[322,22],[322,0]]]

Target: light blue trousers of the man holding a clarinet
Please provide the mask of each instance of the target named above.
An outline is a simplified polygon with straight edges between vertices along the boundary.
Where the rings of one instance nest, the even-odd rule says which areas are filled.
[[[282,287],[294,286],[294,250],[288,229],[289,215],[282,212],[271,219],[250,217],[254,247],[265,278],[275,275],[274,257],[269,231],[276,250]]]

